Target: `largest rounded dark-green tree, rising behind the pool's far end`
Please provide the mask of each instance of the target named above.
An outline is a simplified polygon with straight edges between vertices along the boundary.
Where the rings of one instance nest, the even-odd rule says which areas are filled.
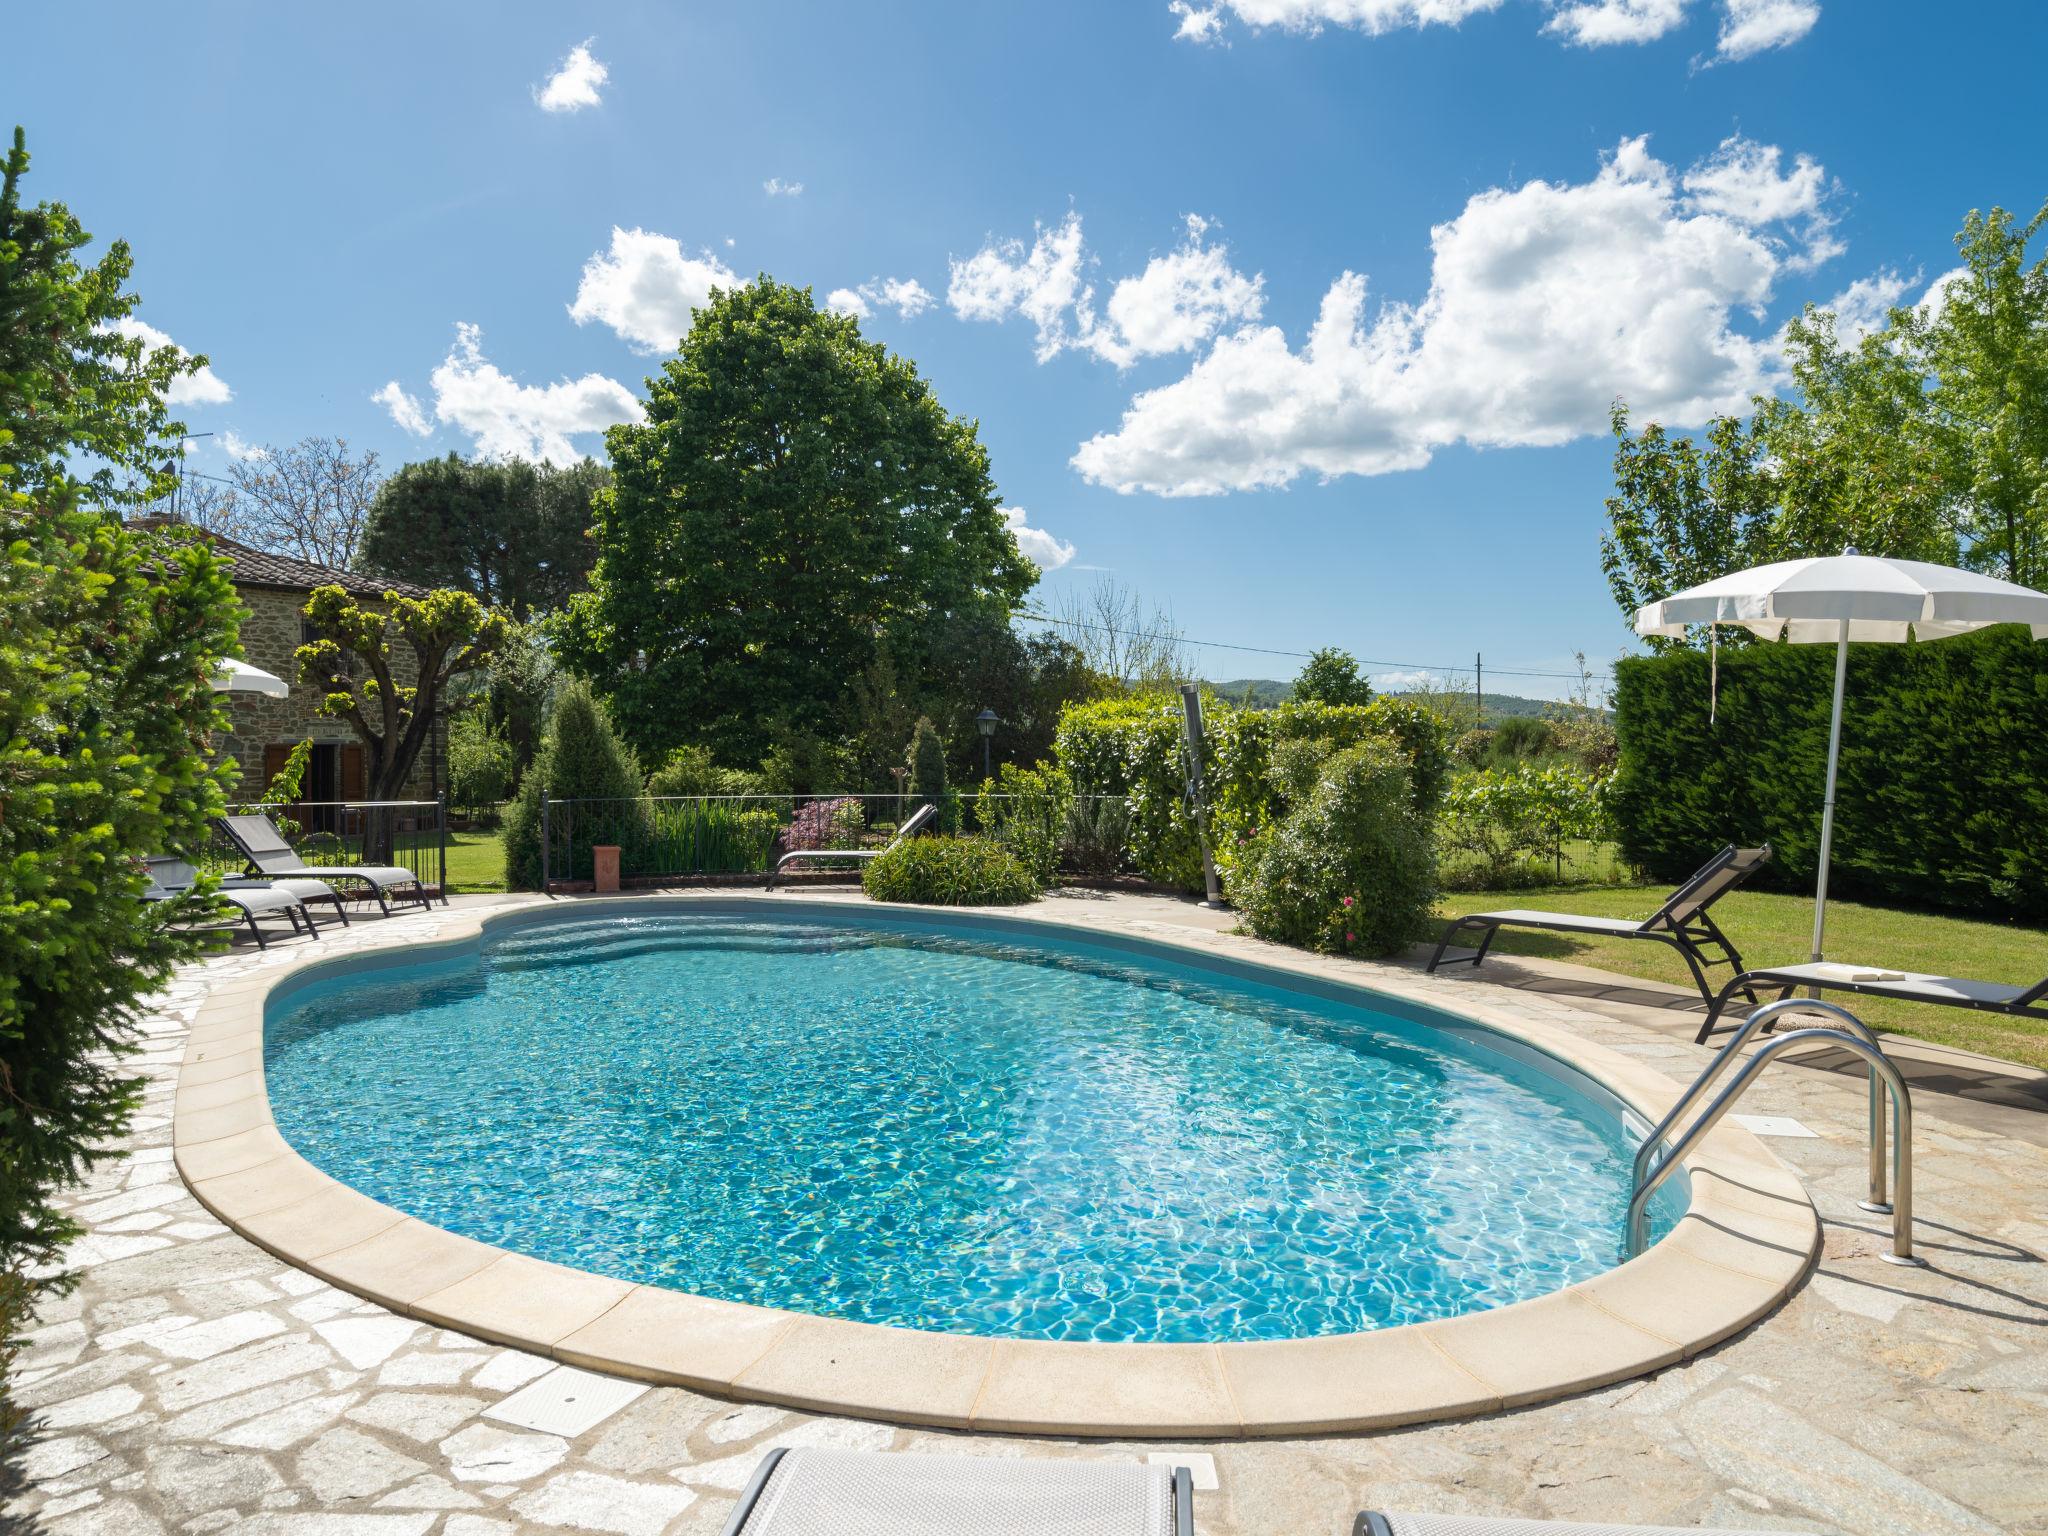
[[[700,741],[752,764],[791,731],[842,733],[883,649],[915,692],[903,657],[928,631],[1008,618],[1036,582],[975,424],[809,289],[713,291],[647,420],[606,442],[561,655],[649,760]]]

